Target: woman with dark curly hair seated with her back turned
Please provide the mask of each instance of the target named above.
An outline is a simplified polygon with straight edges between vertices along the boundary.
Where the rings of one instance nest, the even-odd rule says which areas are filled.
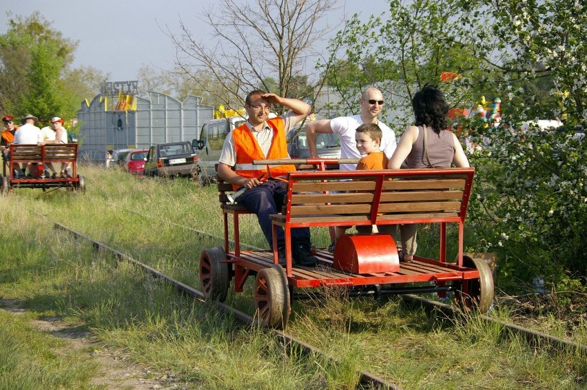
[[[404,161],[408,168],[468,167],[462,145],[450,130],[447,115],[449,104],[435,85],[426,84],[412,99],[415,125],[406,129],[393,156],[390,170],[399,170]],[[416,248],[416,224],[400,225],[402,249],[400,261],[411,263]]]

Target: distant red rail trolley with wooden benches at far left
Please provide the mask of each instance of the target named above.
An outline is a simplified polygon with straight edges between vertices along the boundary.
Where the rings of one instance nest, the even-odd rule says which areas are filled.
[[[13,188],[41,188],[56,189],[65,187],[72,190],[85,191],[85,181],[77,174],[77,147],[76,143],[60,143],[47,145],[10,145],[10,160],[3,164],[3,176],[0,190],[3,194]],[[31,163],[39,164],[39,175],[33,177],[15,177],[14,164],[26,166]],[[40,178],[43,172],[43,163],[52,163],[55,168],[61,167],[61,163],[71,163],[71,177]],[[7,172],[8,168],[8,172]],[[34,177],[37,176],[37,177]]]

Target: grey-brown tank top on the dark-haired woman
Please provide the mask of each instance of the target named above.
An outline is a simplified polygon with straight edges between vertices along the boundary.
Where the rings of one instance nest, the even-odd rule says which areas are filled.
[[[426,154],[424,154],[424,132],[422,126],[418,126],[418,139],[412,145],[412,150],[406,158],[409,168],[429,168],[428,161],[426,161]],[[455,143],[453,141],[453,133],[449,130],[442,130],[440,134],[436,134],[432,127],[424,129],[427,136],[428,156],[430,163],[435,168],[449,168],[455,156]]]

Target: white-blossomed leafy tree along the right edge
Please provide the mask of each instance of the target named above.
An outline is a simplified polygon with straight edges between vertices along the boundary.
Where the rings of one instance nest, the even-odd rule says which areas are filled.
[[[491,85],[502,92],[505,109],[502,127],[486,134],[487,147],[471,156],[482,166],[477,185],[484,186],[473,203],[478,212],[471,215],[486,249],[502,254],[506,280],[585,277],[587,143],[577,139],[574,127],[586,118],[586,4],[491,5],[493,25],[471,39],[499,43],[491,56],[484,47],[477,54],[495,68]],[[520,121],[554,117],[564,119],[566,129],[520,130]]]

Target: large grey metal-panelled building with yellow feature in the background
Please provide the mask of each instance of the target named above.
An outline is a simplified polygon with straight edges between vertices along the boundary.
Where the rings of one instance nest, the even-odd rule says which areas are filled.
[[[141,92],[138,81],[104,83],[101,93],[83,101],[77,112],[80,158],[103,161],[106,150],[192,141],[212,119],[212,107],[201,103],[199,96],[182,102],[160,92]]]

